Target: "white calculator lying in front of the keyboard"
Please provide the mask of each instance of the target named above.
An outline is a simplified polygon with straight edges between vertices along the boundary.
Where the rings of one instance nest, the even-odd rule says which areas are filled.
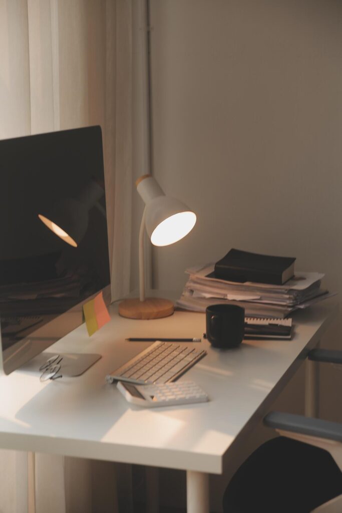
[[[156,385],[133,385],[119,381],[116,387],[125,399],[138,406],[172,406],[209,401],[206,392],[193,381],[177,381]]]

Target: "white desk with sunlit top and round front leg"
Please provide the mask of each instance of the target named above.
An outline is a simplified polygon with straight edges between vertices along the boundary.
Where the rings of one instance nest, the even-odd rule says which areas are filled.
[[[198,383],[209,403],[140,409],[105,376],[149,345],[126,337],[201,337],[202,313],[112,320],[91,338],[85,325],[49,351],[103,355],[79,378],[40,383],[37,361],[0,378],[0,447],[187,470],[188,511],[208,513],[208,474],[222,473],[233,447],[263,418],[337,312],[326,302],[295,317],[292,341],[248,341],[208,355],[182,379]]]

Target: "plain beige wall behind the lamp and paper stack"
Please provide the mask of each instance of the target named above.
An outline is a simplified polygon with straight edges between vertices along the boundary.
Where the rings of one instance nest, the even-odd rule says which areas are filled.
[[[154,285],[180,290],[186,266],[236,247],[341,291],[342,4],[151,0],[151,16],[154,174],[198,214],[154,249]],[[324,345],[340,339],[337,322]],[[342,372],[321,370],[321,415],[342,421]],[[302,382],[277,407],[300,411]]]

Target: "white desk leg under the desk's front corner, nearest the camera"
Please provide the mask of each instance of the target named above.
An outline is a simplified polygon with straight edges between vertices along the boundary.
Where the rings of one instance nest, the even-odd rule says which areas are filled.
[[[187,513],[209,513],[209,474],[187,470]]]

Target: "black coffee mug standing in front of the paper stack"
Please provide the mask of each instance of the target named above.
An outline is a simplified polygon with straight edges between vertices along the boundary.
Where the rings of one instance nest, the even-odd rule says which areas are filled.
[[[245,308],[236,305],[211,305],[206,309],[207,339],[213,347],[237,347],[244,339]]]

